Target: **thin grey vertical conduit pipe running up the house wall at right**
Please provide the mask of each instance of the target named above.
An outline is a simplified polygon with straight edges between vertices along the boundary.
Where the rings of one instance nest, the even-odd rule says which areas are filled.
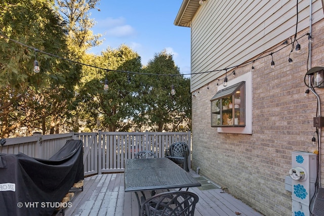
[[[309,0],[309,34],[312,35],[312,0]],[[308,44],[309,46],[309,65],[308,68],[311,68],[311,53],[312,53],[312,49],[311,49],[311,43]],[[311,78],[309,76],[309,80],[310,83]],[[318,116],[321,116],[321,111],[320,111],[320,98],[317,95],[317,93],[314,91],[313,88],[310,88],[310,91],[316,96],[317,98],[317,105],[318,105]],[[321,135],[322,135],[322,129],[321,127],[318,127],[318,167],[317,167],[317,171],[318,171],[318,187],[321,188]]]

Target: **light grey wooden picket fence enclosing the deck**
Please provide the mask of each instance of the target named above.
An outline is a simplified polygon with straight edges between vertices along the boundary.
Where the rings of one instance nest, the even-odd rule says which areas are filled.
[[[9,138],[0,145],[0,153],[22,152],[30,157],[49,159],[71,139],[79,139],[84,143],[85,176],[104,172],[123,172],[126,160],[134,158],[135,154],[142,150],[149,150],[158,157],[164,157],[165,149],[177,141],[186,142],[191,149],[190,131],[168,133],[99,131],[43,136],[34,134],[31,137]],[[188,160],[190,169],[190,157]]]

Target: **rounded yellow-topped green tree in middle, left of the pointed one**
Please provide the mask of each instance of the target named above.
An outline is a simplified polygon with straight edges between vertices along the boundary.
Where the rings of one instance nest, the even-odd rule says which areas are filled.
[[[121,45],[118,49],[108,48],[101,56],[88,59],[100,68],[88,68],[80,87],[79,101],[82,107],[82,119],[87,127],[104,131],[127,131],[132,125],[133,95],[138,91],[135,74],[123,71],[140,71],[141,59],[129,47]],[[108,90],[104,91],[104,80],[108,81]],[[99,127],[97,119],[100,121]],[[91,129],[90,129],[91,131]]]

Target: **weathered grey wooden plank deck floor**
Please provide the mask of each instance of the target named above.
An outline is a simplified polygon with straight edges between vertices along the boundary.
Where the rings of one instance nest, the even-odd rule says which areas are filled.
[[[190,188],[189,191],[199,196],[195,216],[263,215],[219,188]],[[74,191],[71,207],[65,208],[64,213],[67,216],[138,216],[138,204],[135,193],[124,191],[124,173],[103,174],[85,178],[84,190]],[[58,211],[56,215],[63,213]]]

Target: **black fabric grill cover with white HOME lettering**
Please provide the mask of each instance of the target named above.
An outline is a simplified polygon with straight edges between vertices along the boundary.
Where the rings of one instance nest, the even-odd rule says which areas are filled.
[[[0,153],[0,215],[52,215],[83,179],[80,140],[68,140],[49,160]]]

